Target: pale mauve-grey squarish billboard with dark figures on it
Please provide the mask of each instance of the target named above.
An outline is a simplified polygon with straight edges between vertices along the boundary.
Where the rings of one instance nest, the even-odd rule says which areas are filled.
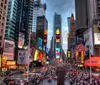
[[[29,55],[27,50],[18,50],[18,64],[28,65],[29,64]]]

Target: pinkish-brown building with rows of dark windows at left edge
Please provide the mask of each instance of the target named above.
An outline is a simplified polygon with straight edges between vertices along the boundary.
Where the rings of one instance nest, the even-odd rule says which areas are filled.
[[[2,54],[3,51],[5,38],[7,7],[8,0],[0,0],[0,54]]]

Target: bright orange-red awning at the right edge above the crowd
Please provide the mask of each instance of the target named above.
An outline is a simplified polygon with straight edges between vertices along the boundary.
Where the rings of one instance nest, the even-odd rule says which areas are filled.
[[[84,66],[100,66],[100,57],[91,57],[84,61]]]

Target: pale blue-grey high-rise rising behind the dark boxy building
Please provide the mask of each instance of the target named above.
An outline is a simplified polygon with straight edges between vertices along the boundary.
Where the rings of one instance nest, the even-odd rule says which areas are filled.
[[[34,1],[32,32],[36,32],[37,17],[45,16],[45,10],[46,10],[46,4],[42,4],[41,0]]]

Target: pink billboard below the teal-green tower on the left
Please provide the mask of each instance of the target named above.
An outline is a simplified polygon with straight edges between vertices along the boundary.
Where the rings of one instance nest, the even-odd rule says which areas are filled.
[[[14,41],[4,40],[3,56],[7,57],[7,60],[14,60]]]

